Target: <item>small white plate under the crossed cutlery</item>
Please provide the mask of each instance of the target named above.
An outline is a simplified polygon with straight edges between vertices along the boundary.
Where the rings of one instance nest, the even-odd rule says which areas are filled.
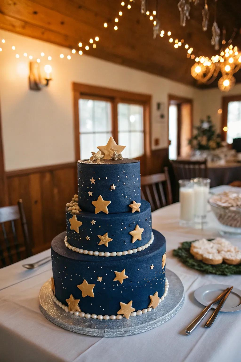
[[[194,292],[194,296],[197,301],[204,306],[208,306],[221,292],[223,292],[226,288],[231,287],[231,285],[225,284],[209,284],[203,285],[198,288]],[[218,304],[214,304],[216,308]],[[237,288],[233,288],[231,293],[229,294],[226,302],[223,305],[223,308],[220,310],[221,312],[236,312],[241,311],[241,290]]]

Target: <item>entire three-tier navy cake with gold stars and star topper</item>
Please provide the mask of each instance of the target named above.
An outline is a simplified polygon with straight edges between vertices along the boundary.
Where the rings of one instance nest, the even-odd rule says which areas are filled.
[[[66,204],[67,234],[51,244],[53,300],[74,316],[122,319],[158,307],[168,290],[165,238],[141,200],[140,163],[111,137],[78,161],[78,195]]]

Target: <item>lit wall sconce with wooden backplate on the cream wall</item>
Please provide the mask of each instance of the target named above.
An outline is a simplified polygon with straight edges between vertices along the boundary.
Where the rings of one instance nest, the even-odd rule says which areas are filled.
[[[40,65],[37,62],[29,63],[29,88],[31,90],[41,90],[44,87],[48,87],[51,78],[52,67],[49,64],[44,66],[46,77],[41,76]]]

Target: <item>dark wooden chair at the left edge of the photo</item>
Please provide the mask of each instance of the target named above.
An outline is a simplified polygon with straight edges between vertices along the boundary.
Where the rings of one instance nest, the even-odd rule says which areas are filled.
[[[21,222],[24,246],[21,245],[17,237],[16,225],[14,223],[16,220]],[[23,257],[32,255],[21,199],[18,200],[17,205],[0,207],[0,225],[3,231],[3,239],[0,237],[0,266],[12,264]]]

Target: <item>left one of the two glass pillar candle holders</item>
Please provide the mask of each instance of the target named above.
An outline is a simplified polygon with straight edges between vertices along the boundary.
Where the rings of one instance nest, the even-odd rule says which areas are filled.
[[[194,219],[194,189],[190,180],[179,180],[180,225],[190,226]]]

